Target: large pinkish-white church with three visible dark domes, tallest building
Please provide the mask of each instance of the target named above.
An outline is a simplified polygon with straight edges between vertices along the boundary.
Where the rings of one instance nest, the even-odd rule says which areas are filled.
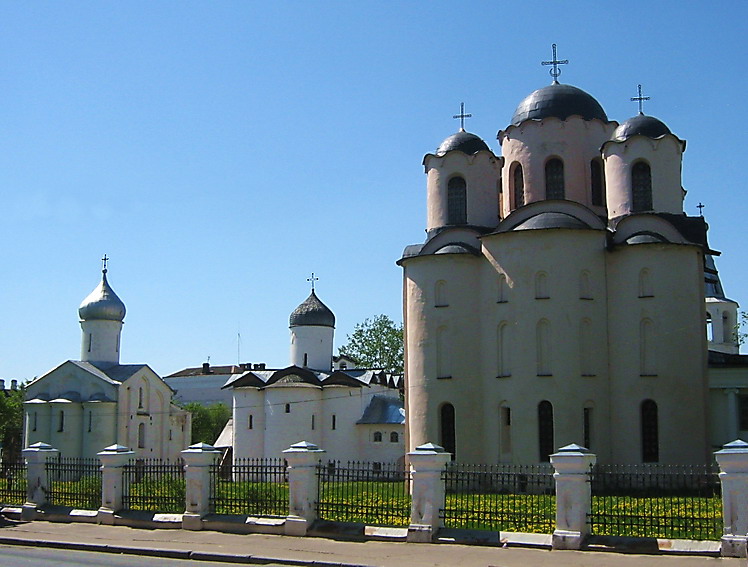
[[[608,119],[554,70],[498,154],[461,128],[423,160],[427,237],[398,261],[406,448],[707,462],[748,433],[748,357],[707,224],[683,211],[686,142],[641,107]]]

